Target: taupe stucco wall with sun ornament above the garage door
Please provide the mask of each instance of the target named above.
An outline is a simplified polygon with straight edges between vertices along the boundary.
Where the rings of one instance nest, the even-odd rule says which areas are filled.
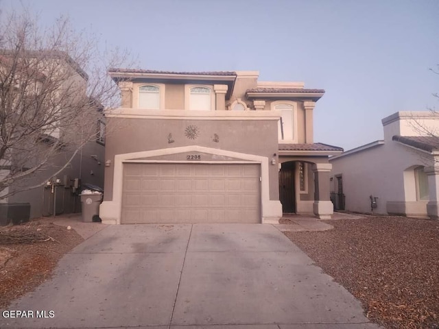
[[[198,127],[199,136],[195,140],[185,136],[189,125]],[[117,129],[123,127],[123,129]],[[197,119],[128,119],[108,118],[106,160],[114,163],[115,155],[128,154],[153,149],[199,145],[234,151],[242,154],[277,157],[277,122],[274,120],[197,120]],[[171,134],[173,143],[169,143]],[[217,134],[218,142],[215,142]],[[172,156],[171,156],[172,158]],[[181,160],[175,155],[174,160]],[[219,159],[221,160],[221,159]],[[112,199],[114,166],[106,167],[105,200]],[[278,200],[278,167],[269,166],[270,199]]]

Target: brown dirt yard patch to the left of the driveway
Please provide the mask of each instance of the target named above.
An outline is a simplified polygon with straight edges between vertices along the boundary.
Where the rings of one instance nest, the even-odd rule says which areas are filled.
[[[50,222],[0,228],[0,308],[50,278],[58,260],[82,241],[74,230]]]

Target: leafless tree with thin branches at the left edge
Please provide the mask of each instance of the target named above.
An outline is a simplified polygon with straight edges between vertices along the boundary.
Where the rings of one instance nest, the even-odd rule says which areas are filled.
[[[27,10],[1,16],[0,199],[42,186],[97,138],[104,109],[119,104],[108,68],[126,59],[99,51],[97,40],[74,32],[67,18],[40,29]],[[60,153],[68,155],[65,163],[45,175]],[[37,173],[40,181],[29,186]]]

